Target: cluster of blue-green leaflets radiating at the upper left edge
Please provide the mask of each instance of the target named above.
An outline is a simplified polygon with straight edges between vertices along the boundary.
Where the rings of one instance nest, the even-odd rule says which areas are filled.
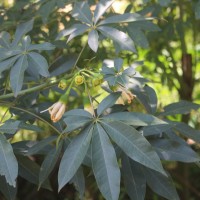
[[[3,71],[10,70],[10,85],[15,96],[22,89],[25,71],[36,77],[39,74],[49,76],[46,59],[34,51],[52,50],[54,46],[48,42],[31,44],[30,37],[23,36],[32,28],[33,20],[20,24],[12,42],[9,33],[0,34],[0,76]]]

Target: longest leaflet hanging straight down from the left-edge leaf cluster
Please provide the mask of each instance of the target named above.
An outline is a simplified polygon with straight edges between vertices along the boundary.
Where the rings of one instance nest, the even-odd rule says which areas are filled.
[[[28,68],[27,55],[21,56],[10,71],[10,84],[16,97],[22,89],[24,72]]]

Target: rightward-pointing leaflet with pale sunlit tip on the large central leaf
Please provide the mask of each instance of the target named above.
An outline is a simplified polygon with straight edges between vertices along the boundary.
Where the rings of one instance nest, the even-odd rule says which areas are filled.
[[[139,112],[117,112],[104,116],[107,121],[121,121],[132,126],[148,126],[157,124],[167,124],[154,117],[153,115],[139,113]]]

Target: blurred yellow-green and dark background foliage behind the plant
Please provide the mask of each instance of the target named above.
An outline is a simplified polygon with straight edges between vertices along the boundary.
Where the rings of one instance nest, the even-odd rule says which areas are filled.
[[[0,32],[8,31],[13,34],[18,24],[34,18],[34,28],[29,33],[33,43],[48,41],[56,46],[56,50],[44,53],[50,63],[50,71],[54,71],[57,63],[65,64],[72,54],[75,54],[76,57],[87,39],[86,36],[81,36],[71,41],[69,44],[73,46],[72,48],[69,48],[66,40],[55,41],[58,32],[63,28],[70,27],[74,20],[70,15],[72,2],[75,1],[0,0]],[[95,0],[89,0],[89,3],[91,9],[94,9],[92,5]],[[159,109],[178,100],[200,103],[200,0],[116,0],[109,10],[109,12],[114,13],[124,13],[124,11],[138,12],[149,17],[155,17],[155,26],[150,28],[149,24],[146,23],[146,25],[141,25],[140,28],[137,26],[137,30],[134,32],[133,38],[136,43],[137,54],[122,52],[119,56],[124,59],[127,65],[135,61],[143,63],[137,69],[150,81],[149,85],[156,90]],[[64,56],[58,57],[61,54]],[[112,58],[115,55],[115,48],[111,42],[106,40],[101,43],[97,57],[95,57],[96,54],[93,54],[87,48],[79,60],[79,65],[85,65],[87,57],[94,56],[89,64],[87,62],[88,67],[94,65],[101,67],[103,59]],[[4,87],[5,85],[0,83],[0,89],[2,90]],[[51,92],[46,99],[43,97],[41,102],[48,101],[50,105],[51,102],[57,99],[58,94],[55,91]],[[27,101],[30,100],[28,99],[30,98],[18,99],[18,101],[21,101],[24,105],[29,105],[30,102]],[[79,101],[79,98],[72,96],[68,107],[74,108]],[[132,109],[141,110],[143,108],[138,102],[135,102]],[[5,112],[6,108],[2,108],[0,111],[0,118],[4,117],[4,120],[9,118]],[[175,116],[173,120],[182,120],[189,123],[190,126],[200,129],[200,113],[198,112],[194,111],[190,116]],[[40,124],[40,126],[45,125]],[[34,140],[35,138],[46,137],[47,134],[50,135],[51,130],[39,135],[20,131],[14,139]],[[192,145],[195,150],[199,151],[197,144]],[[41,157],[35,157],[34,159],[41,163]],[[181,200],[200,199],[200,180],[198,179],[200,171],[196,165],[187,164],[186,166],[170,162],[166,163],[166,167],[170,170],[177,184]],[[56,174],[56,169],[53,173]],[[54,181],[53,189],[56,187],[57,183]],[[0,199],[3,199],[3,197],[0,197]],[[59,195],[56,193],[56,189],[52,192],[44,189],[37,191],[34,185],[21,178],[18,184],[18,199],[75,200],[78,199],[78,194],[70,185],[65,187]],[[89,175],[86,199],[103,199],[93,178]],[[128,199],[123,193],[123,187],[120,199]],[[161,200],[163,198],[147,190],[146,199]]]

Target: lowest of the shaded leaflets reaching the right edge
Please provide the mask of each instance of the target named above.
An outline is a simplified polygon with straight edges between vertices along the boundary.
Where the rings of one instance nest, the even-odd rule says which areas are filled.
[[[185,163],[200,161],[198,154],[187,143],[180,144],[168,139],[154,139],[150,143],[155,147],[158,155],[163,160],[181,161]]]

